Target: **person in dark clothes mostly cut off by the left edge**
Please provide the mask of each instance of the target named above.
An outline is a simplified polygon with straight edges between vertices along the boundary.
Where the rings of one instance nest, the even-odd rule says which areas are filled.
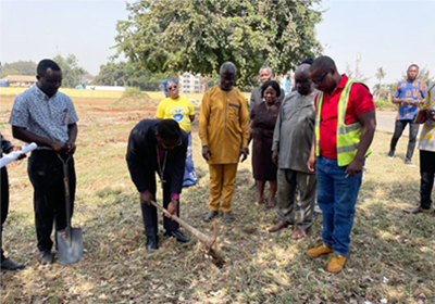
[[[0,150],[0,156],[3,157],[3,152],[4,153],[10,153],[12,151],[17,151],[21,150],[20,147],[14,147],[9,140],[4,139],[4,137],[0,134],[1,136],[1,150]],[[21,154],[18,156],[18,160],[24,159],[26,155]],[[18,270],[24,268],[23,264],[15,263],[8,257],[4,256],[3,254],[3,224],[7,220],[8,217],[8,212],[9,212],[9,179],[8,179],[8,170],[7,167],[1,168],[1,235],[0,235],[0,248],[1,248],[1,269],[3,270]]]

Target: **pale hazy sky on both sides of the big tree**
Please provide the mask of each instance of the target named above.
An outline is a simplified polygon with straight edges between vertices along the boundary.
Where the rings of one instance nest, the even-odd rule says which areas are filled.
[[[435,0],[324,0],[321,9],[326,12],[315,27],[318,39],[340,73],[347,64],[355,71],[359,54],[370,87],[378,67],[386,71],[383,83],[400,80],[411,63],[435,77]],[[127,17],[124,0],[0,0],[0,62],[71,53],[97,75],[116,52],[116,22]]]

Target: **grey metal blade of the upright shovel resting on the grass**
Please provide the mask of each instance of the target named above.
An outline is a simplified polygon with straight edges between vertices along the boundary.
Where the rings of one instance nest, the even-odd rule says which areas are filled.
[[[82,228],[71,228],[71,241],[66,229],[57,232],[59,262],[63,265],[75,264],[83,256]]]

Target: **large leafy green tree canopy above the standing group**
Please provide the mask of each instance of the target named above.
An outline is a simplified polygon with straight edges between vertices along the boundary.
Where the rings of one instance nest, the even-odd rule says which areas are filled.
[[[295,68],[321,50],[314,26],[320,0],[140,0],[116,25],[117,54],[152,73],[216,75],[222,63],[247,84],[259,68]]]

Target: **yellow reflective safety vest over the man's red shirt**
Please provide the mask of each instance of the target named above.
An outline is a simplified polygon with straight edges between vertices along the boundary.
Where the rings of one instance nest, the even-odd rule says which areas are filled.
[[[353,161],[355,155],[358,151],[360,143],[362,125],[360,122],[356,122],[350,125],[346,125],[346,110],[347,103],[349,102],[350,89],[353,84],[359,83],[353,79],[348,79],[345,88],[341,91],[338,101],[338,117],[337,117],[337,161],[338,166],[347,166]],[[362,84],[363,85],[363,84]],[[364,85],[365,86],[365,85]],[[315,156],[320,156],[320,121],[322,112],[323,92],[318,98],[318,117],[315,119]],[[371,153],[368,149],[365,156]]]

